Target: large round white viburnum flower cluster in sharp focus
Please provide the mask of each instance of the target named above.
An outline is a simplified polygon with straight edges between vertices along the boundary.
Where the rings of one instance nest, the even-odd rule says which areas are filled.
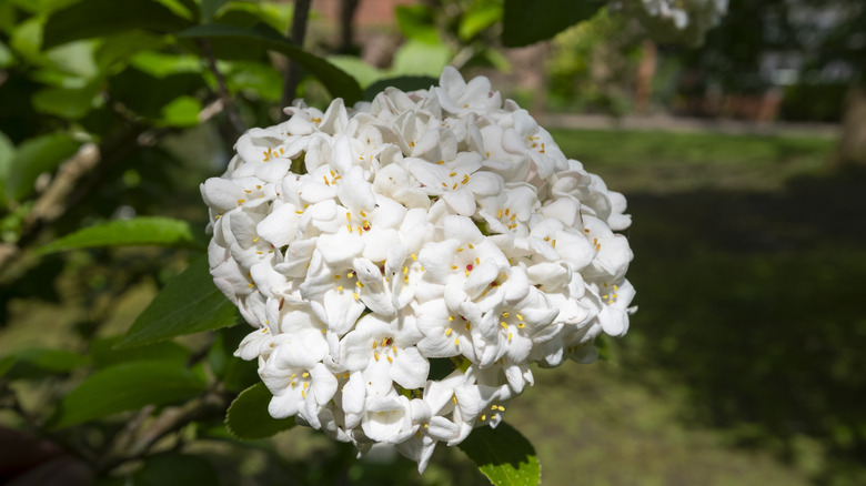
[[[202,184],[216,286],[255,327],[269,412],[423,470],[495,427],[530,367],[628,328],[625,199],[486,78],[243,134]]]

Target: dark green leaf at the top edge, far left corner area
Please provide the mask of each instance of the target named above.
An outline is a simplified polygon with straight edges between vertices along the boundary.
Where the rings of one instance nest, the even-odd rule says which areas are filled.
[[[189,20],[153,0],[83,0],[48,19],[42,47],[48,49],[130,29],[174,32],[190,24]]]

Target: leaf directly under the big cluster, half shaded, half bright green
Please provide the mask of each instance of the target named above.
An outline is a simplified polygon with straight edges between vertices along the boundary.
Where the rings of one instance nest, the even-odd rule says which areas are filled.
[[[541,483],[541,464],[535,457],[535,448],[505,422],[496,428],[472,431],[460,444],[460,449],[496,486],[535,486]]]

